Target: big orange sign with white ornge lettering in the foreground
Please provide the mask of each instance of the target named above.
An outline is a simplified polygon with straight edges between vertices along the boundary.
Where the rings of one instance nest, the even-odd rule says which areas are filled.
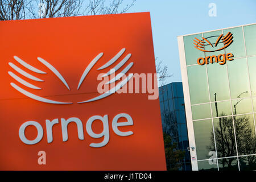
[[[0,40],[1,170],[166,169],[159,100],[118,92],[156,72],[149,13],[0,22]]]

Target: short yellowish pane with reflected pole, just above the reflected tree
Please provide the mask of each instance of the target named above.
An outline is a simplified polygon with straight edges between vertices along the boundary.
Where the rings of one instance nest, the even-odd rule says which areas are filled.
[[[230,101],[214,102],[212,103],[212,116],[221,117],[225,115],[232,115]]]

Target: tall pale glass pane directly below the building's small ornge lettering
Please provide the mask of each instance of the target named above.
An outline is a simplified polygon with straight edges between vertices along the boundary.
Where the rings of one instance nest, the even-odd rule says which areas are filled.
[[[210,101],[229,100],[229,80],[226,65],[207,65]]]

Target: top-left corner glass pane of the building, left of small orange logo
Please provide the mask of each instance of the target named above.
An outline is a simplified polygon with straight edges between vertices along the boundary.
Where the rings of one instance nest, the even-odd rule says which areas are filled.
[[[189,35],[183,37],[187,65],[197,64],[197,59],[199,57],[204,57],[204,52],[199,51],[194,47],[195,44],[193,43],[195,42],[193,40],[196,40],[195,38],[201,40],[202,34]]]

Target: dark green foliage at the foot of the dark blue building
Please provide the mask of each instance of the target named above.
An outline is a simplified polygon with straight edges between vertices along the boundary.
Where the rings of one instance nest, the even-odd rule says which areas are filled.
[[[181,167],[180,160],[183,160],[185,151],[177,150],[177,143],[167,133],[163,133],[164,151],[166,152],[166,165],[168,171],[177,171]]]

